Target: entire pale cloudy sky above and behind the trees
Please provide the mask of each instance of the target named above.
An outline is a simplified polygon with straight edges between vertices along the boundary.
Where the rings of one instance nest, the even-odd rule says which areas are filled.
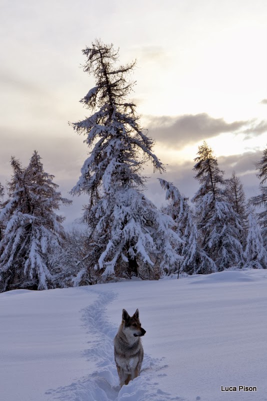
[[[88,116],[79,100],[94,86],[81,50],[96,39],[137,60],[130,100],[166,166],[160,177],[184,195],[198,188],[194,158],[206,140],[225,177],[258,192],[255,165],[267,144],[265,0],[0,0],[0,182],[11,155],[27,165],[33,150],[62,195],[69,227],[86,197],[72,197],[89,149],[69,122]],[[145,194],[164,200],[147,165]]]

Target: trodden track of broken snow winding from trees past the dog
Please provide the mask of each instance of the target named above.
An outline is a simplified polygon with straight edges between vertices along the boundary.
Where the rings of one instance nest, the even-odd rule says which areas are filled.
[[[83,355],[94,361],[96,370],[71,384],[45,392],[47,399],[60,401],[186,401],[158,388],[156,377],[166,376],[164,357],[155,359],[145,354],[140,376],[120,388],[113,356],[113,338],[117,327],[111,326],[105,313],[105,306],[116,298],[113,292],[97,293],[98,299],[82,311],[82,321],[88,334],[97,335],[88,341],[90,348]]]

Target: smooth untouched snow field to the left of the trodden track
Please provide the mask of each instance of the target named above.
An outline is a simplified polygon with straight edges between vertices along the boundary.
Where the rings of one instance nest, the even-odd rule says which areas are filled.
[[[96,299],[83,287],[0,294],[0,401],[47,400],[88,369],[79,310]]]

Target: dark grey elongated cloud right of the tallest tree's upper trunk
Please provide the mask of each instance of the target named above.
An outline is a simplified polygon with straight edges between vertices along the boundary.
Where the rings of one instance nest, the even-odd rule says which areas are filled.
[[[171,147],[195,143],[224,132],[236,133],[248,123],[248,120],[227,123],[223,118],[213,118],[206,113],[148,117],[149,136]]]

